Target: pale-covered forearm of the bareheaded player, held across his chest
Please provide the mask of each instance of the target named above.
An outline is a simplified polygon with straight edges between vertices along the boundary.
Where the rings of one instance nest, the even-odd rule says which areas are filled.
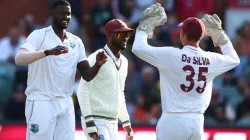
[[[15,57],[15,63],[18,66],[24,66],[44,57],[46,57],[46,55],[43,50],[35,52],[29,52],[28,50],[19,50]]]

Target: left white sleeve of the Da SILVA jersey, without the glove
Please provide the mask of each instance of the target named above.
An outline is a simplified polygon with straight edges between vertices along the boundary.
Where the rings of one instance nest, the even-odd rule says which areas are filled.
[[[149,64],[164,69],[171,65],[171,55],[174,55],[175,49],[173,47],[153,47],[147,43],[147,34],[143,31],[137,31],[132,48],[132,52],[148,62]]]

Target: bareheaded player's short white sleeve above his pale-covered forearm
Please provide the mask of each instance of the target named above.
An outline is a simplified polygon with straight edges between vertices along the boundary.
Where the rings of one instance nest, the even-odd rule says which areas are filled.
[[[41,31],[39,30],[33,31],[20,48],[27,49],[31,52],[38,50],[39,45],[41,45],[42,42],[41,39],[43,36],[44,35],[41,34]]]

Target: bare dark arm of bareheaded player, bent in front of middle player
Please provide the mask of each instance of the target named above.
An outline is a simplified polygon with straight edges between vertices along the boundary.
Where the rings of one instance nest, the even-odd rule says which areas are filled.
[[[96,55],[96,63],[94,66],[90,67],[89,62],[82,61],[77,64],[77,69],[80,72],[82,78],[89,82],[91,81],[98,73],[101,66],[107,61],[107,56],[104,51],[99,52]]]

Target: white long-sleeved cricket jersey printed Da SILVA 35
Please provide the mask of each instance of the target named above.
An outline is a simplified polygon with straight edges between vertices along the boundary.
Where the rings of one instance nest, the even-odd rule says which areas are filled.
[[[213,79],[240,63],[231,42],[221,46],[223,55],[193,46],[152,47],[142,31],[137,31],[132,51],[158,68],[163,112],[204,113]]]

